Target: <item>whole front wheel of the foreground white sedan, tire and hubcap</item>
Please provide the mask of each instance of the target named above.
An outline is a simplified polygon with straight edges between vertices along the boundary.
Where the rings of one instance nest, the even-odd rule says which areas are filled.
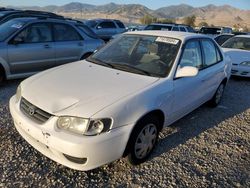
[[[138,165],[147,160],[157,143],[159,127],[159,120],[156,116],[147,116],[138,122],[128,143],[127,159],[130,164]]]

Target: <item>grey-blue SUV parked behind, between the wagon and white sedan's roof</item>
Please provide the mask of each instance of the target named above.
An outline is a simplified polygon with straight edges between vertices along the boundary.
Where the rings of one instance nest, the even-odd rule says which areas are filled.
[[[126,31],[124,24],[120,20],[93,19],[84,23],[105,41],[110,40],[113,35]]]

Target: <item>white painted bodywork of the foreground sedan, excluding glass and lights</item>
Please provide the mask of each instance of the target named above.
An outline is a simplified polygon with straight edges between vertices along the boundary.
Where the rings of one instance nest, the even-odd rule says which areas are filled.
[[[202,36],[159,31],[133,34],[170,36],[183,42]],[[166,78],[128,73],[86,61],[32,76],[21,83],[22,97],[53,117],[43,125],[36,124],[19,110],[20,102],[16,103],[13,96],[10,111],[15,126],[38,151],[70,168],[90,170],[119,159],[134,125],[145,114],[161,110],[165,116],[164,126],[170,125],[211,99],[222,80],[229,78],[229,66],[220,62],[199,71],[195,77],[175,79],[180,49]],[[106,133],[80,136],[58,130],[56,121],[63,115],[91,119],[108,117],[113,124]],[[63,153],[87,158],[87,162],[84,165],[70,162]]]

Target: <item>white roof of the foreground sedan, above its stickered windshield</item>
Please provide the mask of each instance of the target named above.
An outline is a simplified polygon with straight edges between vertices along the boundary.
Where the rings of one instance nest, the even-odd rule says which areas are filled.
[[[189,33],[189,32],[179,32],[179,31],[133,31],[133,32],[127,32],[125,34],[130,34],[130,35],[149,35],[149,36],[159,36],[159,37],[170,37],[170,38],[176,38],[180,40],[187,40],[191,38],[211,38],[208,37],[207,35],[203,34],[196,34],[196,33]]]

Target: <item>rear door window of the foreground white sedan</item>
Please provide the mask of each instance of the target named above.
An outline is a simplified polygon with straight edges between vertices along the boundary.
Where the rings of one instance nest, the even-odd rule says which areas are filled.
[[[217,55],[213,42],[209,40],[203,40],[202,47],[205,56],[205,66],[210,66],[217,63]]]

